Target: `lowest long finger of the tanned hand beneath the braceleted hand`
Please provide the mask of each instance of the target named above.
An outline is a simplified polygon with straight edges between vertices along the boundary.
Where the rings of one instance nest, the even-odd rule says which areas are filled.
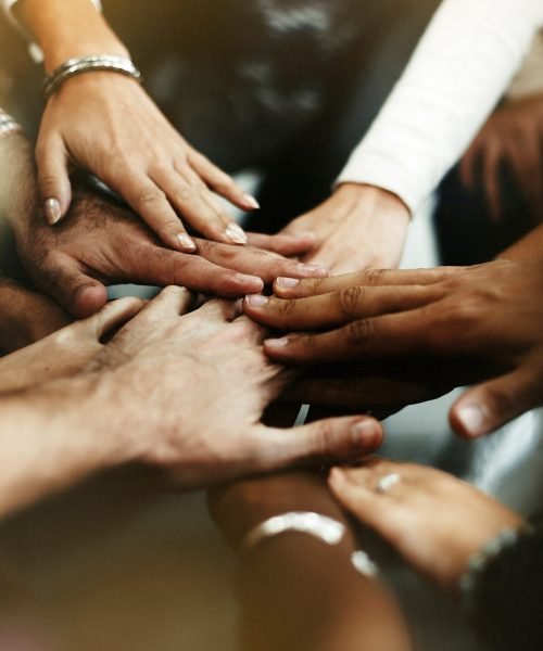
[[[264,288],[262,279],[256,276],[226,269],[200,255],[186,255],[159,246],[150,246],[146,251],[146,270],[132,280],[162,286],[182,285],[225,298],[239,298]]]

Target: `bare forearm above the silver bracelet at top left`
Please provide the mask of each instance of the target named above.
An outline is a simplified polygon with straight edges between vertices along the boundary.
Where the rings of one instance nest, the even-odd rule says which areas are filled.
[[[47,72],[73,56],[128,56],[90,0],[18,0],[14,12],[41,47]]]

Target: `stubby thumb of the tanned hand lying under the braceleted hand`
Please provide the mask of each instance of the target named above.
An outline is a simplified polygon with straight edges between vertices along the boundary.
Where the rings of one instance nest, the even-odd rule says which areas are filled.
[[[96,314],[108,301],[105,286],[67,256],[50,256],[36,281],[77,319]]]

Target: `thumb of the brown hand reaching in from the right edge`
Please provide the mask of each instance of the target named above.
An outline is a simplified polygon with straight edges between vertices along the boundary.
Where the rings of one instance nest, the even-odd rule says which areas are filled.
[[[452,427],[462,436],[478,438],[542,404],[543,370],[520,367],[467,391],[451,408]]]

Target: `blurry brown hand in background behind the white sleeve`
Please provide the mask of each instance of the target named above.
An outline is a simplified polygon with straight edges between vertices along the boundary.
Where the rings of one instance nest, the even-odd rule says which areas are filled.
[[[460,164],[463,182],[473,189],[478,170],[490,213],[502,213],[501,174],[509,169],[534,216],[543,209],[543,94],[515,100],[481,129]]]

